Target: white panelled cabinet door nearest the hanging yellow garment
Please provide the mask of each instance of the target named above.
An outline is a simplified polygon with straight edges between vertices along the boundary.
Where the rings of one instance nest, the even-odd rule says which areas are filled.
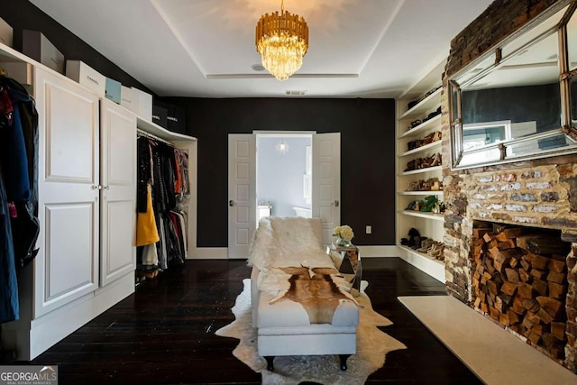
[[[100,286],[136,268],[136,116],[103,99],[100,108]]]

